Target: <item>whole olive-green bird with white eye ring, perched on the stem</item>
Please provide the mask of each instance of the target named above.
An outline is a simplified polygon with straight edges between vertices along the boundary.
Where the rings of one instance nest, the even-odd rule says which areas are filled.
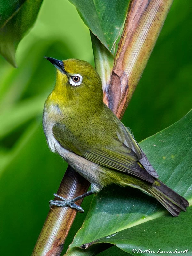
[[[43,113],[43,129],[52,152],[58,153],[91,183],[91,190],[53,205],[83,209],[75,202],[109,184],[139,188],[155,197],[173,215],[186,211],[188,201],[158,179],[136,140],[103,103],[102,82],[86,61],[45,57],[56,68],[56,84]]]

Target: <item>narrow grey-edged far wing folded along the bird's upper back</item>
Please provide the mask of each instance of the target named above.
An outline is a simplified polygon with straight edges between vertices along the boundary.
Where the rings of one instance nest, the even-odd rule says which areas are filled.
[[[120,132],[117,133],[118,140],[126,145],[128,148],[131,148],[133,152],[138,157],[138,161],[143,165],[145,170],[151,174],[153,177],[158,178],[157,172],[154,170],[152,165],[150,164],[147,156],[140,148],[137,141],[134,139],[133,134],[121,123],[119,119],[114,120],[118,123],[119,127],[121,127]]]

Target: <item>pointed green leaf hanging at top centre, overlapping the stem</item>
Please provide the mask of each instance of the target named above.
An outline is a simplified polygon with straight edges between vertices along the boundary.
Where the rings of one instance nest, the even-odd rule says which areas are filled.
[[[75,5],[84,23],[114,54],[115,43],[121,33],[129,0],[69,0]]]

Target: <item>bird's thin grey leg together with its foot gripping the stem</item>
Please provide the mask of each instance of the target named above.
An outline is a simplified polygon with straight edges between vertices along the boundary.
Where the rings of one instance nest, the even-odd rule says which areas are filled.
[[[51,200],[49,201],[49,207],[50,209],[52,209],[52,206],[55,205],[55,206],[58,206],[58,207],[65,207],[65,206],[70,206],[71,208],[74,208],[76,209],[78,212],[84,212],[84,210],[78,206],[77,204],[75,204],[76,201],[78,201],[79,199],[82,199],[86,196],[89,196],[89,195],[92,195],[94,194],[91,190],[84,193],[83,195],[81,196],[77,196],[76,198],[74,199],[66,199],[62,196],[58,196],[57,194],[54,194],[55,197],[58,197],[60,198],[62,201],[59,201],[59,200]]]

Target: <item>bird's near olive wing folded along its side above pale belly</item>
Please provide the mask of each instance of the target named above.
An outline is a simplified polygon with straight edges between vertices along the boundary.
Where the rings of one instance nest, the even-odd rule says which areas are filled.
[[[101,166],[105,166],[120,172],[135,175],[143,180],[154,183],[153,177],[138,162],[137,154],[124,143],[112,139],[110,145],[92,148],[86,147],[86,143],[80,142],[75,135],[64,132],[62,124],[55,124],[53,134],[55,139],[64,148],[83,156],[84,158]]]

